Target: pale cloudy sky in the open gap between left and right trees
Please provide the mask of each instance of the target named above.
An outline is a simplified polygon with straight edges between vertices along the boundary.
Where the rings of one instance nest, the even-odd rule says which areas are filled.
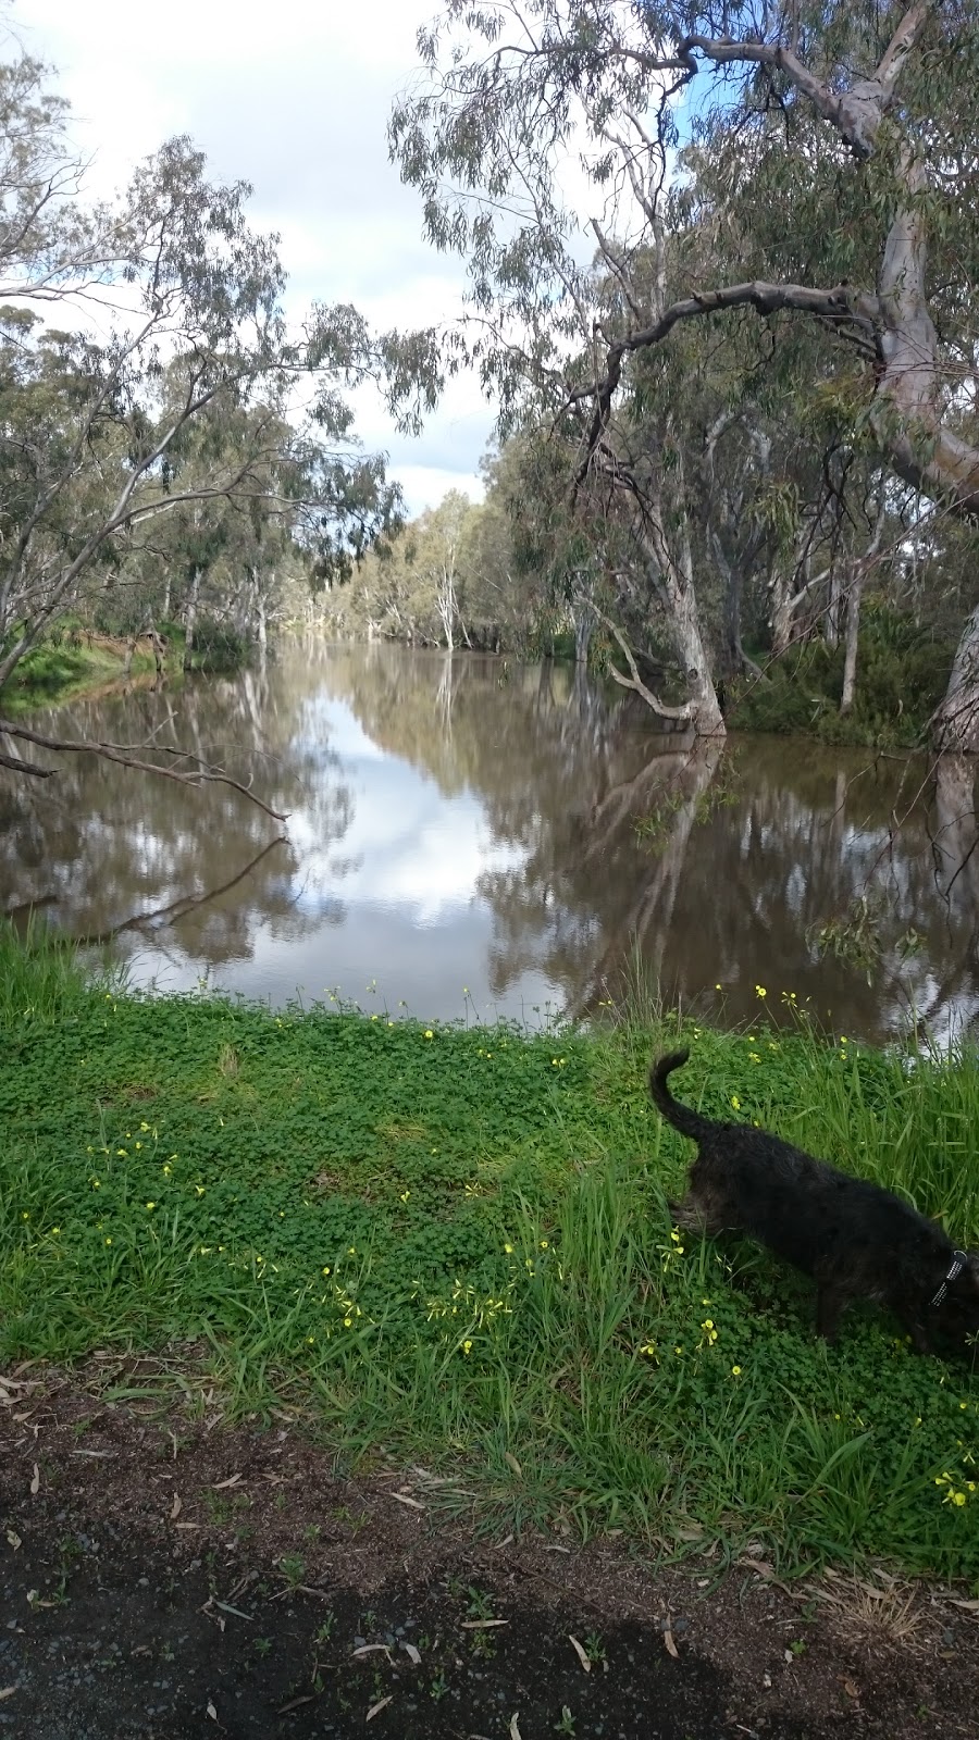
[[[9,26],[57,68],[108,195],[178,132],[219,179],[254,188],[251,216],[280,235],[287,306],[354,303],[371,325],[416,327],[462,308],[463,264],[422,235],[422,202],[387,158],[392,99],[418,64],[415,31],[439,0],[16,0]],[[409,513],[448,489],[483,494],[493,407],[472,378],[449,383],[423,435],[397,433],[375,393],[357,432],[388,454]]]

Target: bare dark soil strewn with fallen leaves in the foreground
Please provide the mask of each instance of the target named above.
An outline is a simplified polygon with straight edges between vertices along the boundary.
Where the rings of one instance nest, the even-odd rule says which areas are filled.
[[[230,1425],[153,1361],[0,1378],[0,1740],[976,1733],[969,1590],[657,1568],[467,1503],[383,1456],[343,1477],[289,1411]]]

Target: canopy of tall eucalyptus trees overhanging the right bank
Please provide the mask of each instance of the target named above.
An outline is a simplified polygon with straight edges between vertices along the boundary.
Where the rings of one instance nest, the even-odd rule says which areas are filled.
[[[909,534],[979,515],[979,14],[448,0],[418,45],[390,144],[469,264],[460,355],[503,433],[561,452],[591,552],[568,539],[568,583],[632,637],[660,621],[686,715],[719,729],[711,585],[737,606],[761,564],[782,614],[819,597],[855,633]],[[935,715],[958,748],[969,606]]]

